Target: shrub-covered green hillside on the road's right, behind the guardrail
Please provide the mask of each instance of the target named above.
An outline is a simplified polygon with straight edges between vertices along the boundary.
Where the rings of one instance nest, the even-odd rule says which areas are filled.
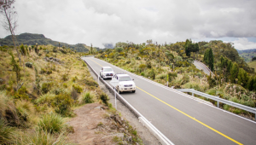
[[[113,65],[160,84],[166,85],[168,81],[169,87],[195,89],[255,107],[254,70],[229,43],[210,41],[194,44],[188,39],[186,42],[164,45],[152,44],[152,40],[148,40],[147,44],[117,43],[114,49],[97,52],[96,57],[106,61],[106,55],[108,62]],[[198,70],[193,65],[194,60],[207,64],[215,76],[207,76]],[[208,101],[216,105],[216,102]],[[220,107],[254,118],[253,113],[235,107],[225,104],[220,104]]]

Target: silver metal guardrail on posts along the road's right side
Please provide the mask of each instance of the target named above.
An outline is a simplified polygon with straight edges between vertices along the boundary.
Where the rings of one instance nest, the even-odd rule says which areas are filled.
[[[222,98],[219,98],[218,96],[211,96],[211,95],[208,95],[206,93],[202,93],[201,91],[197,91],[197,90],[194,90],[194,89],[177,89],[177,90],[182,91],[182,92],[190,92],[190,93],[192,93],[192,96],[194,96],[194,94],[196,94],[196,95],[199,95],[199,96],[207,97],[208,99],[212,99],[212,100],[217,102],[218,107],[219,107],[219,102],[222,102],[222,103],[230,105],[232,107],[237,107],[237,108],[240,108],[240,109],[245,110],[245,111],[250,112],[250,113],[255,113],[255,119],[256,119],[256,108],[247,107],[245,105],[241,105],[241,104],[236,103],[236,102],[230,102],[230,101],[224,100]]]

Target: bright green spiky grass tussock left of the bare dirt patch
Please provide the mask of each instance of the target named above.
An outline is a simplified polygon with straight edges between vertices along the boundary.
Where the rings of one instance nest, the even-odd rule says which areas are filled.
[[[63,118],[56,113],[44,114],[38,122],[38,131],[60,133],[64,127]]]

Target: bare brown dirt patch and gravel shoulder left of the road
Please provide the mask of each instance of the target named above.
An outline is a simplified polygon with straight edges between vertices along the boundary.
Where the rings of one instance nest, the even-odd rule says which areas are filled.
[[[94,73],[90,71],[91,76],[97,80]],[[114,96],[109,93],[104,84],[100,82],[101,89],[108,94],[110,101],[114,107]],[[160,145],[160,142],[143,126],[137,117],[131,113],[131,111],[125,107],[121,102],[117,101],[118,112],[121,118],[127,120],[129,124],[136,128],[137,135],[143,140],[145,145]],[[109,118],[109,114],[106,110],[102,109],[102,104],[92,103],[84,105],[74,111],[77,117],[71,119],[67,124],[72,125],[74,133],[69,136],[69,140],[78,144],[88,145],[110,145],[118,144],[113,142],[113,137],[118,136],[123,138],[124,129],[117,128],[113,119]],[[126,127],[124,127],[126,128]],[[124,144],[131,144],[129,137],[124,139]]]

